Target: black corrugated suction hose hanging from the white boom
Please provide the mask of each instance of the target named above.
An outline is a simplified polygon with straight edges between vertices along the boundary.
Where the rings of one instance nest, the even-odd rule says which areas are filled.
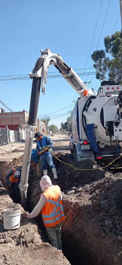
[[[34,72],[38,71],[43,65],[44,58],[40,57],[35,65]],[[33,77],[31,98],[30,98],[30,109],[28,124],[35,125],[37,120],[38,104],[39,104],[39,94],[41,86],[42,77]]]

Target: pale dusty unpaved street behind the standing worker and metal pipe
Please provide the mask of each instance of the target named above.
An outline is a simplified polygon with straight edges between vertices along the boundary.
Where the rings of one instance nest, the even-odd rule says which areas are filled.
[[[69,150],[69,142],[70,138],[68,135],[55,135],[51,136],[51,140],[53,142],[53,151],[57,152],[62,152],[62,153],[70,153]],[[13,147],[15,146],[16,149],[13,151],[7,151],[7,147]],[[25,148],[25,143],[13,143],[9,145],[2,145],[1,149],[6,150],[7,152],[5,153],[0,153],[0,161],[8,161],[12,160],[14,157],[19,157],[24,154],[24,148]],[[33,142],[32,149],[36,148],[36,142]]]

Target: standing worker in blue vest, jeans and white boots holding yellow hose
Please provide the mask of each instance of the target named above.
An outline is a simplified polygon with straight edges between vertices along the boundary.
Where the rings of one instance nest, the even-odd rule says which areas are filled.
[[[47,175],[47,163],[49,165],[49,168],[52,169],[54,179],[57,179],[57,172],[56,167],[53,164],[52,161],[52,154],[50,151],[52,151],[53,143],[49,136],[44,136],[42,133],[35,133],[34,136],[37,139],[37,153],[40,154],[40,160],[43,167],[43,173],[44,175]],[[48,149],[49,150],[48,150]]]

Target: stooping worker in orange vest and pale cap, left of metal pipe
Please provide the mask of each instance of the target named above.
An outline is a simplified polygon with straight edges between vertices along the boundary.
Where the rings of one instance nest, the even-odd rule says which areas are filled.
[[[21,179],[21,169],[12,169],[5,176],[5,181],[8,187],[11,189],[11,197],[13,202],[20,203],[20,189],[19,183]]]

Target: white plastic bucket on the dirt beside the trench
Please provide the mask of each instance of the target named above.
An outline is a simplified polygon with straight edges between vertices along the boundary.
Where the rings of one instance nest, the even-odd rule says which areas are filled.
[[[4,229],[16,229],[20,227],[21,209],[9,208],[3,210]]]

